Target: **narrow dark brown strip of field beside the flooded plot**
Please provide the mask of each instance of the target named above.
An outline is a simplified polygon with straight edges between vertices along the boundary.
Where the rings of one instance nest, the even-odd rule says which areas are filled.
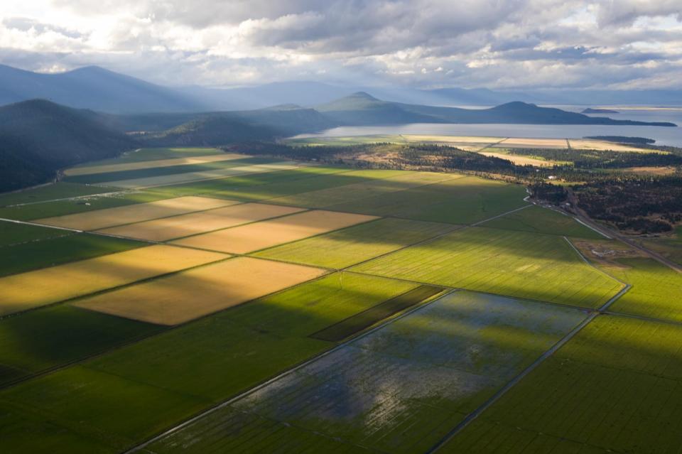
[[[328,340],[329,342],[339,342],[442,291],[442,287],[418,286],[402,295],[379,303],[377,306],[363,310],[361,313],[352,315],[345,320],[341,320],[339,323],[319,330],[311,334],[310,337]]]

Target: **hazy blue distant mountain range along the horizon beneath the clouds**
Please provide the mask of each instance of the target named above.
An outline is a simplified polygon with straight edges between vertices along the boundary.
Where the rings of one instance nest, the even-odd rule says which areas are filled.
[[[251,87],[164,87],[102,67],[43,74],[0,65],[0,105],[49,99],[99,112],[206,112],[261,109],[277,104],[313,107],[354,92],[370,92],[391,102],[432,106],[494,106],[512,101],[534,104],[680,105],[682,90],[525,90],[485,88],[356,87],[323,82],[274,82]]]

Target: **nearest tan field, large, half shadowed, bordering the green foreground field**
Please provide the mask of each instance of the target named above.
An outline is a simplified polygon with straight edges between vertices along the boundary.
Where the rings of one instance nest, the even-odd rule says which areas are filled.
[[[75,306],[160,325],[177,325],[323,274],[324,270],[310,266],[237,257],[93,296]]]

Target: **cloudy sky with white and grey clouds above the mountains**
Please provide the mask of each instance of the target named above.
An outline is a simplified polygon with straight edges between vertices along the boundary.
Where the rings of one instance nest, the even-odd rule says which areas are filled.
[[[679,88],[682,0],[1,0],[0,63],[212,87]]]

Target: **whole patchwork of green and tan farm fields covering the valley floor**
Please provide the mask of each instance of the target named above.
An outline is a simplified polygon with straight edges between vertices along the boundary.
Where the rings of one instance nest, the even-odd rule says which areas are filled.
[[[674,447],[679,274],[521,185],[212,148],[65,173],[0,196],[7,452]]]

